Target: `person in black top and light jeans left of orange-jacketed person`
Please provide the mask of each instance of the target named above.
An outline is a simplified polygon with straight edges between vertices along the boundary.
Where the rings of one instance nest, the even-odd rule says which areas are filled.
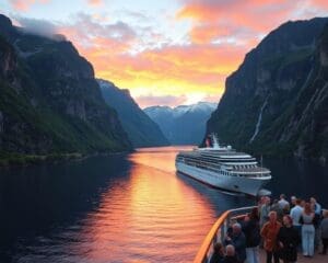
[[[246,237],[247,263],[259,263],[258,245],[260,243],[260,227],[258,208],[255,207],[243,222],[243,232]]]

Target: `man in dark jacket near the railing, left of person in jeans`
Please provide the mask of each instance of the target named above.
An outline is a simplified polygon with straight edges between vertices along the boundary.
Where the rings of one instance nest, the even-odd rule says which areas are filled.
[[[236,256],[241,263],[246,260],[246,238],[242,231],[242,226],[235,222],[232,226],[232,237],[225,238],[226,244],[232,244],[235,248]]]

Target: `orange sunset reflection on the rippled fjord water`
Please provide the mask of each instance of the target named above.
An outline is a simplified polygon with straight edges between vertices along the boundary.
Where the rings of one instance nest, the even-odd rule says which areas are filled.
[[[215,219],[208,201],[175,174],[176,148],[141,150],[129,176],[103,194],[85,220],[87,259],[97,262],[190,262]]]

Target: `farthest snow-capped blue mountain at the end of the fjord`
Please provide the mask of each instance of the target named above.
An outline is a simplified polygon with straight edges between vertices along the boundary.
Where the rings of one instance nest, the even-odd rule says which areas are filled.
[[[161,127],[172,145],[198,145],[206,132],[206,122],[216,104],[199,102],[177,107],[151,106],[143,111]]]

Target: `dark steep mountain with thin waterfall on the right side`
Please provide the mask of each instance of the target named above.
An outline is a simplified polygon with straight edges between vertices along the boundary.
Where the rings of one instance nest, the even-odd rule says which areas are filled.
[[[225,82],[207,133],[272,156],[328,157],[328,19],[282,24]]]

